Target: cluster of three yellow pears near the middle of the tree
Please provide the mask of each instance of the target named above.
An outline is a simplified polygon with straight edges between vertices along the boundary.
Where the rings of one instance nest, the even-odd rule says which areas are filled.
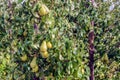
[[[42,58],[48,58],[49,54],[47,48],[52,48],[52,44],[50,42],[43,41],[40,46],[40,54]]]

